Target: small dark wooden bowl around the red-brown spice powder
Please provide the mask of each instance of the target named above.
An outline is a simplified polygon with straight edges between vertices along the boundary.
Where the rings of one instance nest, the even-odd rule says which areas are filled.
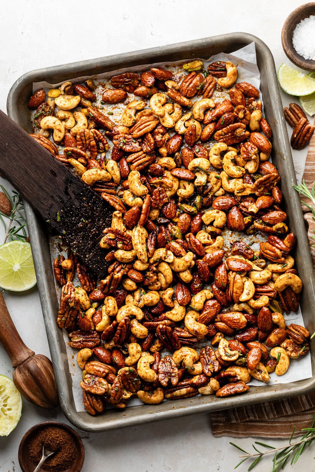
[[[34,464],[28,456],[28,447],[34,434],[37,433],[39,430],[43,430],[47,428],[48,426],[58,426],[59,428],[63,428],[64,430],[68,431],[68,433],[71,434],[77,446],[77,458],[75,462],[71,465],[71,467],[69,467],[64,472],[79,472],[82,469],[83,462],[84,462],[83,442],[75,430],[70,428],[70,426],[68,426],[67,424],[60,423],[59,421],[43,421],[42,423],[35,424],[35,426],[30,428],[25,433],[25,435],[23,436],[20,442],[20,446],[18,448],[18,462],[20,463],[20,467],[22,471],[23,472],[34,471],[36,464]],[[39,472],[45,472],[45,471],[42,468],[40,468]]]

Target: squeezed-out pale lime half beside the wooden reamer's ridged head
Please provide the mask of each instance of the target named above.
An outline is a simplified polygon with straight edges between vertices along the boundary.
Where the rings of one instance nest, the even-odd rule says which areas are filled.
[[[0,375],[0,436],[8,436],[21,418],[22,397],[5,375]]]

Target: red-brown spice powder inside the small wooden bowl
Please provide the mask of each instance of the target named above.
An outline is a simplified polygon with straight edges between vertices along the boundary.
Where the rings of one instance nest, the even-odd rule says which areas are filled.
[[[37,465],[42,458],[43,445],[55,454],[48,457],[42,469],[48,472],[62,472],[67,470],[77,457],[77,446],[72,435],[58,426],[48,426],[39,430],[30,440],[28,455]]]

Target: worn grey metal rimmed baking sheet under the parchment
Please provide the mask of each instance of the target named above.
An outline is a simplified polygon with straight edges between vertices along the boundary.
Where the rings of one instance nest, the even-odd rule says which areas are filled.
[[[261,75],[261,91],[264,100],[264,113],[273,132],[272,161],[281,176],[281,189],[285,197],[285,211],[289,217],[290,228],[297,236],[298,245],[295,260],[300,278],[304,283],[301,296],[301,309],[306,327],[313,332],[315,323],[312,311],[315,307],[315,274],[309,252],[303,214],[298,194],[292,185],[296,184],[295,171],[290,152],[289,139],[284,122],[281,97],[274,68],[272,54],[259,38],[246,33],[231,33],[214,36],[191,42],[171,44],[143,51],[128,52],[107,58],[91,59],[73,64],[49,67],[28,72],[12,86],[7,109],[10,118],[14,119],[26,131],[32,126],[26,104],[32,94],[34,82],[46,80],[58,83],[75,76],[93,76],[123,67],[135,67],[142,64],[178,61],[200,57],[207,59],[219,52],[231,52],[255,42],[257,65]],[[222,410],[232,406],[241,406],[282,397],[297,396],[315,388],[315,339],[310,343],[313,377],[289,384],[251,387],[244,396],[217,398],[216,396],[196,396],[163,402],[160,405],[128,406],[125,410],[108,410],[104,415],[92,417],[86,412],[77,412],[72,394],[72,379],[68,369],[66,348],[62,332],[56,324],[58,300],[51,270],[51,255],[48,233],[43,223],[25,203],[26,220],[29,229],[37,283],[43,308],[43,317],[51,351],[51,360],[57,379],[60,405],[68,420],[78,428],[88,431],[103,431],[123,426],[131,426],[149,421]]]

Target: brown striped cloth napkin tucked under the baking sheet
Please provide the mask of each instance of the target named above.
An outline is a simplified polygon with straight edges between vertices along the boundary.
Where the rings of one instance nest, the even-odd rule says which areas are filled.
[[[303,178],[308,188],[315,181],[315,133],[312,136],[306,156]],[[310,203],[305,197],[302,201]],[[315,268],[315,221],[309,209],[302,205],[308,241]],[[259,405],[241,406],[211,414],[213,436],[233,438],[289,438],[295,426],[294,436],[310,426],[315,413],[315,392],[296,398],[286,398]]]

